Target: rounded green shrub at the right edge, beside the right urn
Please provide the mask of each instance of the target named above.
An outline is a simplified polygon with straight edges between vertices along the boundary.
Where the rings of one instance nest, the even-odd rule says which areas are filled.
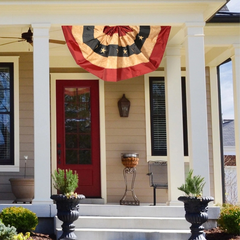
[[[229,234],[240,235],[240,206],[231,204],[223,205],[218,225]]]

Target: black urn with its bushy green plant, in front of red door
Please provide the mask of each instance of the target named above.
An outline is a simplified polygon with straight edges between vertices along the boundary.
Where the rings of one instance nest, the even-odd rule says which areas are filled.
[[[85,198],[82,194],[75,193],[78,187],[78,174],[72,170],[55,170],[52,174],[53,186],[59,194],[51,196],[57,205],[57,216],[63,221],[62,235],[59,239],[77,239],[74,234],[75,225],[73,224],[79,217],[79,203]]]

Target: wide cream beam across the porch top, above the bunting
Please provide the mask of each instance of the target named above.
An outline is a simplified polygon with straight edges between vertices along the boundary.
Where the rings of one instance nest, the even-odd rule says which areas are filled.
[[[227,0],[0,0],[0,23],[179,25],[207,21]],[[94,6],[94,7],[93,7]],[[93,17],[94,16],[94,17]]]

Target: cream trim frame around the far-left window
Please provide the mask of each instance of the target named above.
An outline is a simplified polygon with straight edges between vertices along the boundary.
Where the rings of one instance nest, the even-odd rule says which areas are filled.
[[[0,164],[0,172],[18,172],[19,171],[19,56],[0,56],[0,63],[13,64],[13,124],[14,124],[14,156],[13,164]]]

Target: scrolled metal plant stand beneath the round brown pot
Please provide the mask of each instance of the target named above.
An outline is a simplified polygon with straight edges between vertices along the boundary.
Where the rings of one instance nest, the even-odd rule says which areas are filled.
[[[128,176],[131,177],[130,181],[128,181]],[[136,168],[135,167],[132,167],[132,168],[125,167],[123,169],[123,177],[124,177],[126,187],[125,187],[125,193],[124,193],[122,199],[120,200],[120,205],[140,205],[140,201],[138,200],[136,194],[134,193]],[[130,185],[130,187],[129,187],[129,185]],[[129,192],[130,192],[130,194],[128,194]]]

